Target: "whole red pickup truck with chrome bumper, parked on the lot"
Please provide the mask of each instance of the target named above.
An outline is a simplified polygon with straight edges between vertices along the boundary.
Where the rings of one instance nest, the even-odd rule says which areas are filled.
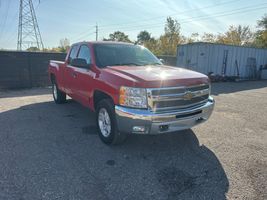
[[[73,44],[65,61],[50,61],[48,71],[55,102],[68,95],[95,111],[106,144],[121,143],[127,134],[189,129],[214,107],[206,75],[163,65],[139,45]]]

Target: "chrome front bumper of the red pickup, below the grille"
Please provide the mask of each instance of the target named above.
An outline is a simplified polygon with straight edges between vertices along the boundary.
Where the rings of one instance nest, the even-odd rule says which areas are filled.
[[[215,101],[209,97],[200,107],[167,113],[115,106],[118,129],[124,133],[160,134],[189,129],[205,122],[213,111]]]

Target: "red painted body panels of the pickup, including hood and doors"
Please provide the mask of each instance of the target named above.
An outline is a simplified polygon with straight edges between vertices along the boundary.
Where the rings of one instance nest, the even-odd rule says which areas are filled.
[[[82,42],[90,48],[92,67],[82,69],[68,64],[69,53],[64,62],[50,61],[49,75],[56,77],[58,87],[70,97],[94,110],[93,95],[96,90],[109,95],[118,104],[121,86],[158,88],[191,86],[209,82],[207,76],[170,66],[115,66],[98,68],[95,64],[94,44]],[[101,42],[98,42],[101,43]],[[73,77],[75,74],[75,77]]]

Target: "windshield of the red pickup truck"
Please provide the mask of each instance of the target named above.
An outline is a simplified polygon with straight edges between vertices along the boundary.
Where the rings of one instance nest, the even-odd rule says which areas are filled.
[[[142,66],[162,65],[159,59],[148,49],[131,44],[95,44],[96,65],[106,66]]]

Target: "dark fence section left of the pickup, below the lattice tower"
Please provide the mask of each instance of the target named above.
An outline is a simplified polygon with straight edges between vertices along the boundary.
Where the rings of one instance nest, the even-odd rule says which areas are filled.
[[[64,60],[64,53],[0,51],[0,89],[49,85],[49,60]]]

